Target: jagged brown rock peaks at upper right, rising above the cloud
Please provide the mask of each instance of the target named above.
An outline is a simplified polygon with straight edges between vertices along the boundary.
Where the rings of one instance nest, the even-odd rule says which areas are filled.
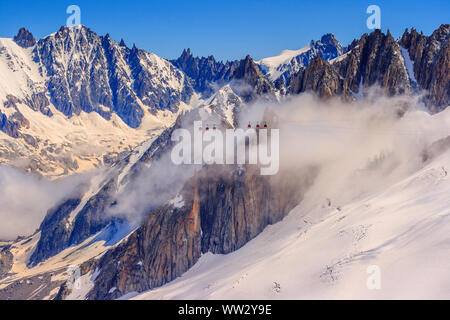
[[[414,81],[426,90],[425,103],[437,112],[450,103],[449,25],[442,25],[429,37],[415,29],[405,31],[396,42],[389,30],[363,35],[341,57],[329,63],[316,58],[290,82],[290,93],[313,91],[321,97],[342,96],[345,100],[362,97],[365,90],[378,86],[385,94],[409,93],[415,85],[408,75],[405,59],[414,63]],[[403,57],[401,47],[409,57]]]

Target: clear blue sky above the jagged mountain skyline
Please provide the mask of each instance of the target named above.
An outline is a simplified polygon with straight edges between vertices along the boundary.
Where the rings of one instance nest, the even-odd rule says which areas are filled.
[[[394,37],[406,27],[430,34],[450,23],[450,1],[302,1],[302,0],[0,0],[0,37],[24,26],[36,38],[65,25],[66,8],[81,8],[81,23],[117,41],[178,57],[190,47],[194,55],[218,59],[255,59],[299,49],[332,32],[346,45],[363,33],[366,8],[381,8],[381,28]]]

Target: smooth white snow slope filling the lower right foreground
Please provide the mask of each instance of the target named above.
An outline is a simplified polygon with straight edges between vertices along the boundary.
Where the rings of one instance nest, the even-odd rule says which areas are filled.
[[[242,249],[203,255],[134,299],[449,299],[448,170],[450,152],[338,207],[324,199],[308,208],[305,199]],[[367,287],[370,266],[381,271],[380,289]]]

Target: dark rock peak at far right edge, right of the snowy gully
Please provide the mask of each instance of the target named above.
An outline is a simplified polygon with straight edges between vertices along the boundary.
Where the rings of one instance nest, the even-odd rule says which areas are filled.
[[[405,30],[399,43],[414,61],[414,75],[427,90],[425,102],[440,111],[450,104],[450,25],[443,24],[431,36],[414,28]]]

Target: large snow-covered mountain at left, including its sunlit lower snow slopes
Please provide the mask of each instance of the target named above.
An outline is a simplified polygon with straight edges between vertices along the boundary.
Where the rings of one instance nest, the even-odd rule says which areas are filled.
[[[39,41],[0,39],[0,163],[47,176],[108,164],[188,107],[193,89],[170,62],[62,27]]]

